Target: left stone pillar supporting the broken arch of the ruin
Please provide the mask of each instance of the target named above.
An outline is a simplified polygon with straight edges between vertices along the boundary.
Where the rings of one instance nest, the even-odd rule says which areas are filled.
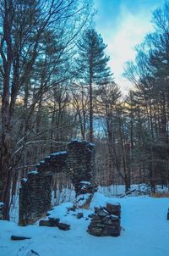
[[[51,208],[52,176],[37,170],[30,171],[21,180],[19,192],[19,225],[28,225],[40,219]]]

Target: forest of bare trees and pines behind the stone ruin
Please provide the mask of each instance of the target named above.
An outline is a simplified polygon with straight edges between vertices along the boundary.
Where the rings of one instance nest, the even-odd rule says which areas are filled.
[[[90,0],[0,1],[0,201],[73,138],[95,142],[95,182],[169,186],[169,3],[113,79]]]

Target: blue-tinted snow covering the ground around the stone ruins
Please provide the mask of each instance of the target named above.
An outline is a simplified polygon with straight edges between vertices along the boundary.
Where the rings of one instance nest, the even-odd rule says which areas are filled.
[[[30,250],[40,256],[163,256],[169,255],[169,220],[166,220],[169,198],[125,197],[106,198],[96,192],[90,209],[83,211],[85,217],[94,206],[121,203],[122,233],[120,237],[93,237],[86,232],[90,219],[77,219],[62,203],[52,212],[70,231],[57,227],[29,225],[19,227],[14,222],[0,221],[0,256],[30,256]],[[76,213],[77,213],[76,212]],[[76,214],[75,213],[75,214]],[[31,237],[25,241],[11,241],[11,235]],[[33,255],[33,254],[32,254]]]

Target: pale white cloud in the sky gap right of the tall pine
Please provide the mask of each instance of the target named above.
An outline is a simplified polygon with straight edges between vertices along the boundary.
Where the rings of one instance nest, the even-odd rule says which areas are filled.
[[[140,12],[134,16],[127,8],[122,6],[121,14],[118,18],[120,24],[118,31],[116,34],[113,34],[112,31],[112,35],[109,34],[106,38],[108,42],[107,53],[111,56],[110,66],[114,73],[115,81],[121,86],[123,92],[127,92],[128,86],[131,86],[122,76],[123,66],[126,61],[134,60],[134,47],[142,42],[146,33],[152,29],[150,17],[150,12]]]

